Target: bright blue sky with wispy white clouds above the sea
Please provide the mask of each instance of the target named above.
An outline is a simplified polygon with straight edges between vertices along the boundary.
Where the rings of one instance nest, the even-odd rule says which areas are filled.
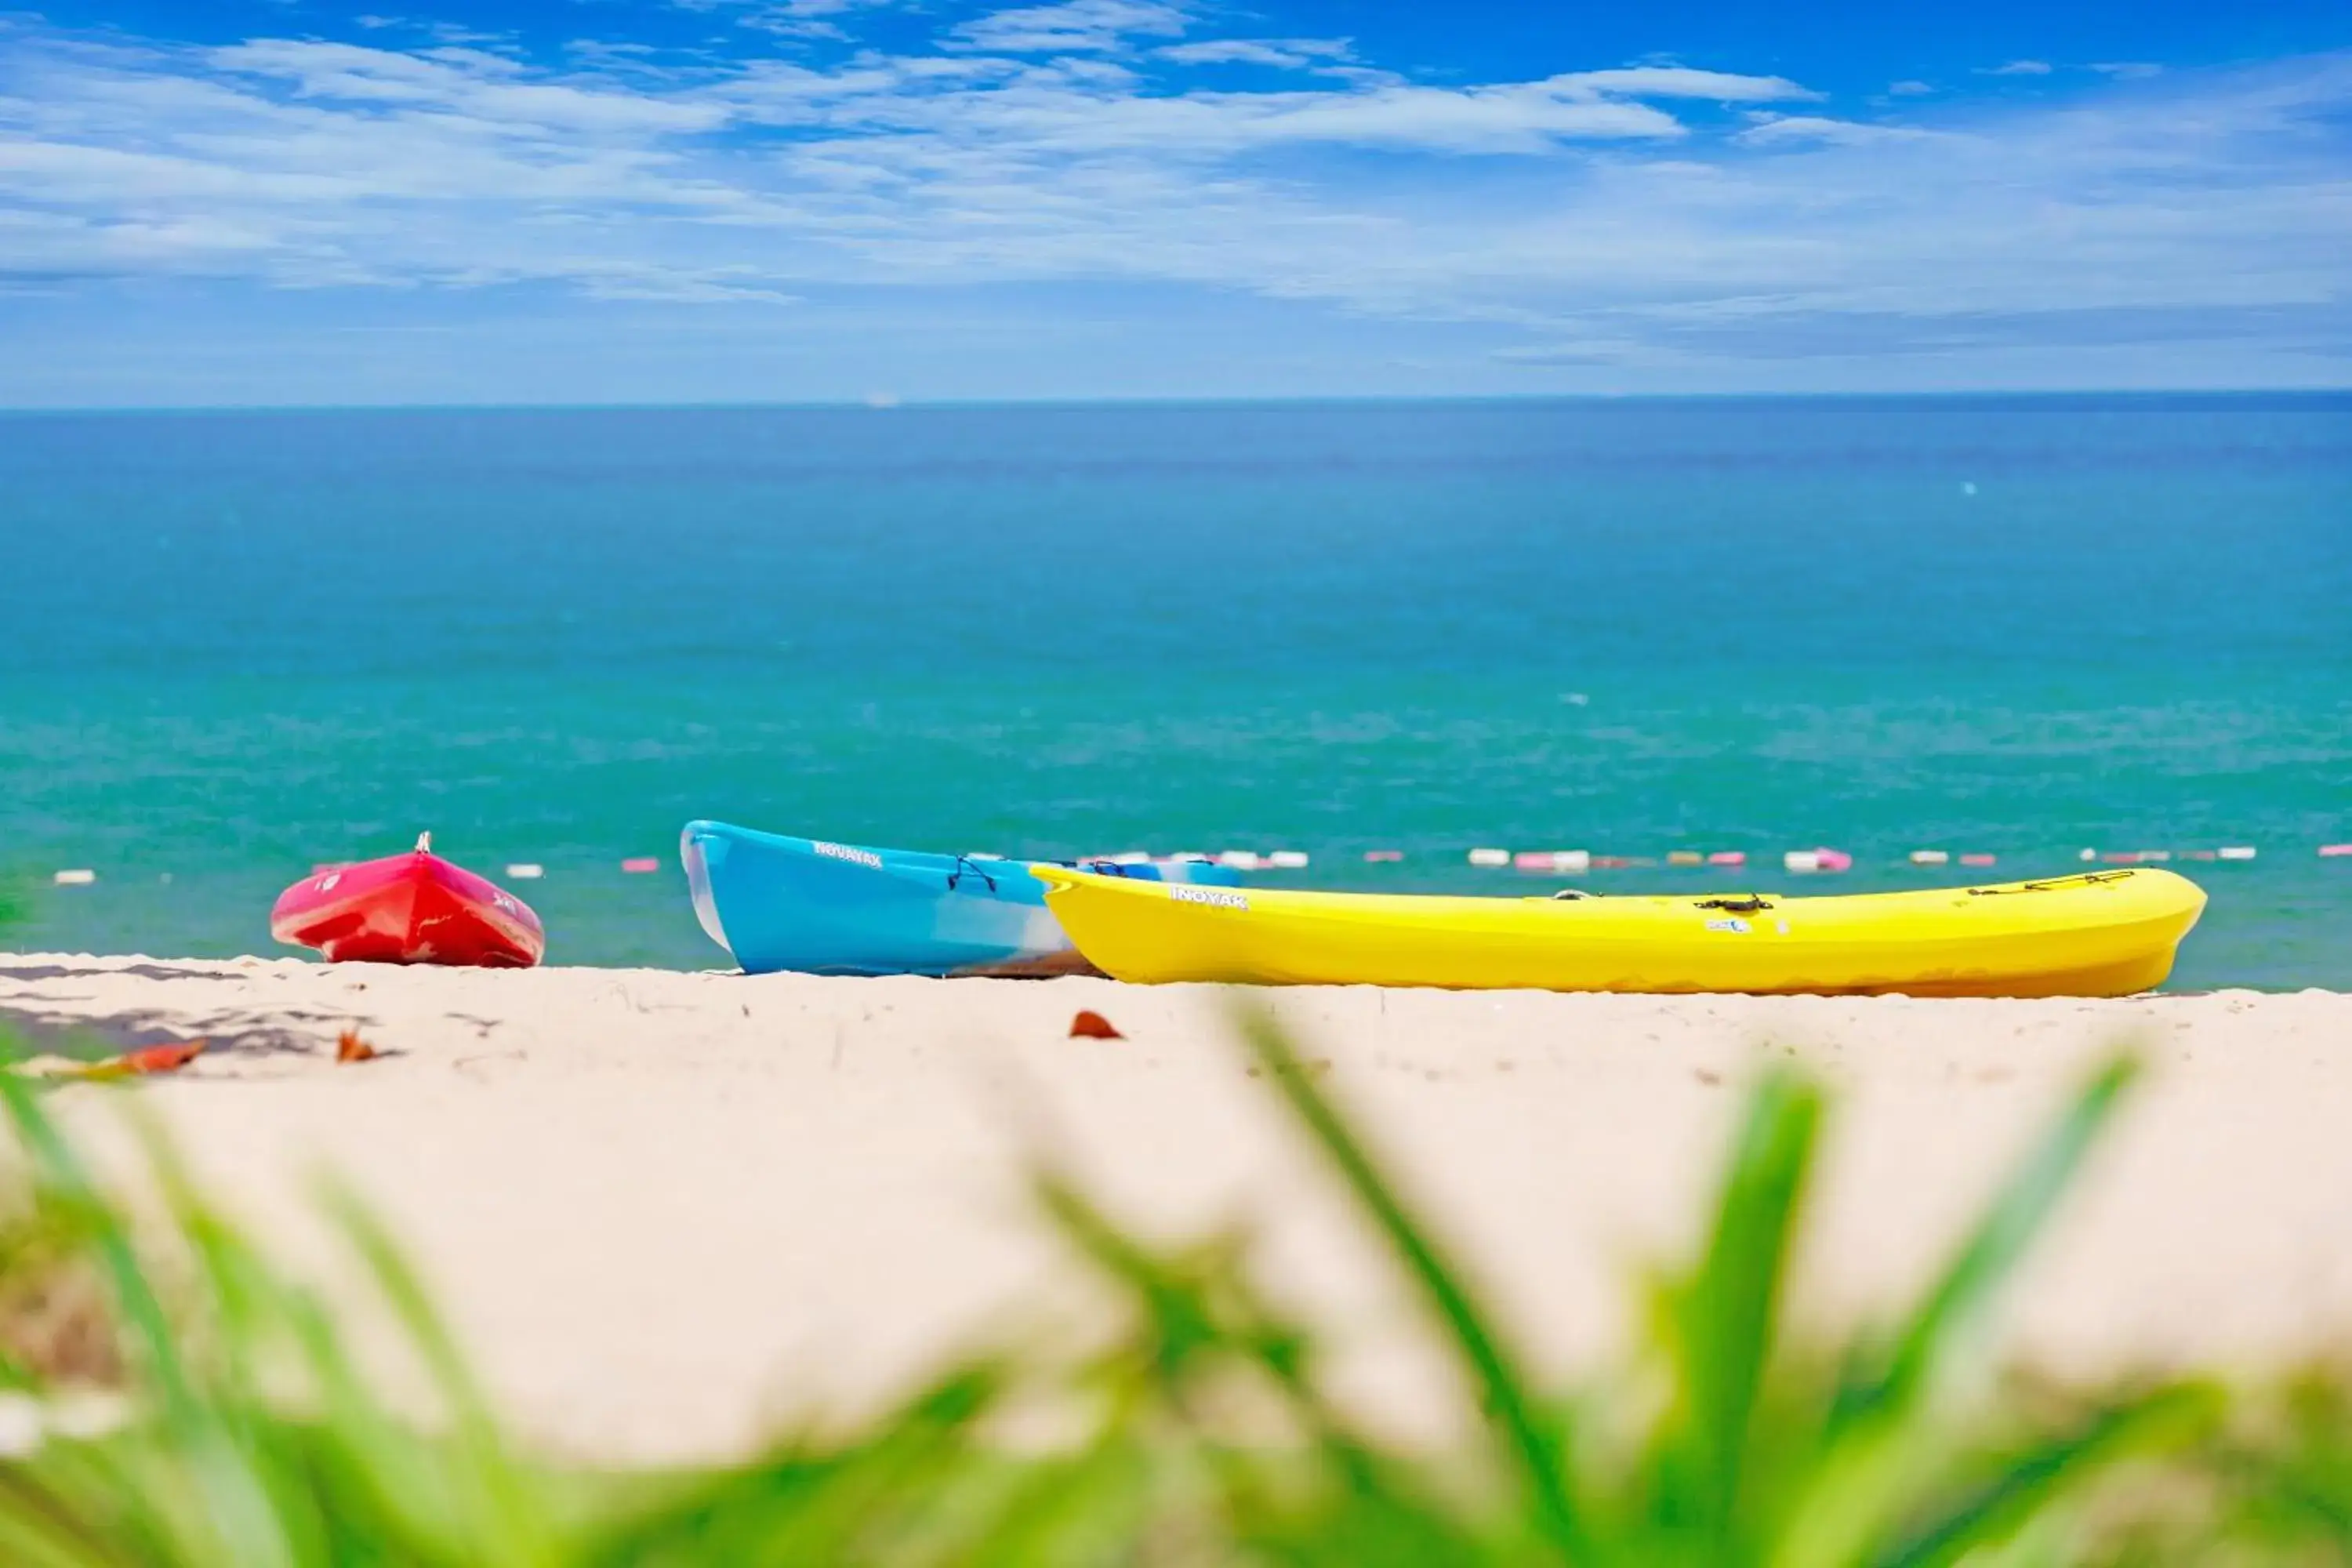
[[[0,0],[0,407],[2319,386],[2343,0]]]

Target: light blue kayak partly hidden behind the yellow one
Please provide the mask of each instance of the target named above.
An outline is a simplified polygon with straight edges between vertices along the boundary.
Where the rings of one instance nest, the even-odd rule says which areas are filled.
[[[743,973],[1089,973],[1028,860],[830,844],[729,823],[687,823],[677,853],[696,919]],[[1242,882],[1211,860],[1077,865],[1150,882]]]

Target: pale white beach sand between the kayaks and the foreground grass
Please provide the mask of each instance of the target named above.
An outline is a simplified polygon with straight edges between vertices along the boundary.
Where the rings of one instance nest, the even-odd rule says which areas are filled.
[[[1258,992],[1327,1058],[1545,1368],[1623,1331],[1738,1084],[1795,1051],[1844,1091],[1809,1309],[1915,1284],[2084,1065],[2154,1072],[2009,1314],[2070,1371],[2267,1361],[2352,1326],[2352,997],[1910,1001]],[[1063,1279],[1021,1152],[1164,1234],[1249,1215],[1343,1324],[1367,1408],[1432,1429],[1409,1307],[1244,1072],[1214,987],[320,969],[0,957],[0,1023],[209,1037],[139,1093],[294,1258],[334,1168],[412,1246],[510,1410],[581,1453],[741,1448],[856,1408]],[[1096,1009],[1129,1039],[1068,1039]],[[334,1063],[358,1025],[390,1056]],[[75,1117],[111,1117],[73,1088]],[[1061,1302],[1073,1298],[1063,1291]]]

